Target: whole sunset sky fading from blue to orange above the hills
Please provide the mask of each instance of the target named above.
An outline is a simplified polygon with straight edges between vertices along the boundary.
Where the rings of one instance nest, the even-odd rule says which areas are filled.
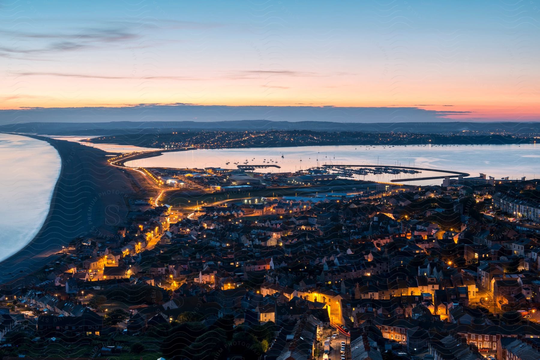
[[[38,121],[36,107],[59,121],[148,106],[204,121],[210,105],[540,120],[539,0],[16,1],[0,18],[3,123]]]

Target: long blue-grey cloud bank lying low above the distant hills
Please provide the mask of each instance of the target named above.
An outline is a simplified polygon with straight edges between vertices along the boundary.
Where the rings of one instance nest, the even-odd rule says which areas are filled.
[[[221,106],[197,104],[136,104],[123,107],[25,108],[0,110],[0,124],[15,122],[109,121],[334,121],[336,123],[404,123],[451,121],[468,111],[437,111],[418,107]]]

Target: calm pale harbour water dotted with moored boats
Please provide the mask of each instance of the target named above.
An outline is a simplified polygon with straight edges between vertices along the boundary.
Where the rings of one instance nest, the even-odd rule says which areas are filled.
[[[540,146],[540,145],[539,145]],[[292,172],[323,164],[400,165],[467,172],[471,176],[484,173],[495,178],[540,177],[540,147],[528,145],[419,145],[419,146],[305,146],[277,148],[242,148],[193,150],[164,153],[159,157],[126,162],[132,167],[236,168],[248,164],[278,165],[261,172]],[[229,164],[227,164],[227,162]],[[367,175],[365,180],[436,176],[440,173]],[[441,180],[411,181],[414,185],[441,185]]]

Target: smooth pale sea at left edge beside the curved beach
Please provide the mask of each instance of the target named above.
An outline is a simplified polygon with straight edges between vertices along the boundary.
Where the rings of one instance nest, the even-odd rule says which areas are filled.
[[[60,156],[45,141],[0,134],[0,260],[36,236],[49,212]]]

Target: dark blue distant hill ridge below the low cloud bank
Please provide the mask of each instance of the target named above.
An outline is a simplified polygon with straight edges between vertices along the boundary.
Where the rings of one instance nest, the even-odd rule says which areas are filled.
[[[508,132],[521,134],[540,133],[540,123],[334,123],[331,121],[112,121],[110,123],[20,123],[0,126],[3,132],[38,133],[45,135],[112,135],[160,133],[170,131],[257,131],[257,130],[311,130],[311,131],[362,131],[362,132],[414,132],[443,134],[456,132]]]

